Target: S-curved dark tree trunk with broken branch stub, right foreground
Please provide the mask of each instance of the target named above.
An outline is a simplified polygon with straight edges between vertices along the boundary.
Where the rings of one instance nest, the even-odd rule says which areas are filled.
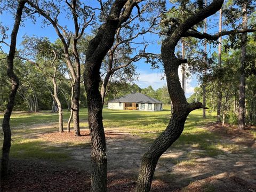
[[[135,189],[137,192],[150,190],[159,157],[161,157],[164,151],[180,137],[190,111],[206,108],[200,102],[188,103],[186,101],[185,94],[179,82],[178,68],[182,63],[187,61],[175,57],[174,51],[175,46],[182,35],[196,23],[217,12],[222,3],[223,1],[214,0],[209,6],[181,23],[162,43],[161,53],[167,87],[173,102],[173,115],[165,131],[154,141],[142,157],[137,186]]]

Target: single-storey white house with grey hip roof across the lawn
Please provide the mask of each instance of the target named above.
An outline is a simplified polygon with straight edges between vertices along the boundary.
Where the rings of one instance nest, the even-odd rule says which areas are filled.
[[[131,93],[119,99],[108,101],[109,109],[161,111],[163,103],[142,93]]]

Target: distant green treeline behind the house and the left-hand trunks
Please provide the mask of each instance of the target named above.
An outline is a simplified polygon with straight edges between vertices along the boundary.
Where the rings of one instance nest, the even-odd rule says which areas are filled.
[[[4,58],[6,57],[6,55],[2,53],[1,57]],[[9,97],[8,89],[10,87],[10,82],[8,81],[5,72],[6,66],[4,65],[4,62],[4,60],[0,60],[1,111],[5,110],[5,105]],[[16,74],[20,79],[20,87],[17,92],[18,95],[15,99],[14,110],[22,110],[28,112],[51,110],[53,112],[57,112],[57,103],[52,97],[54,93],[52,80],[51,78],[46,76],[45,71],[38,69],[29,61],[22,61],[20,59],[14,60],[14,66],[14,71],[16,71]],[[54,73],[54,71],[52,70],[51,73]],[[71,86],[70,79],[67,76],[67,70],[65,69],[65,63],[62,63],[62,65],[58,66],[56,79],[59,86],[58,97],[60,102],[62,103],[62,108],[63,110],[70,111]],[[112,99],[122,97],[132,92],[140,92],[146,94],[149,97],[162,101],[164,104],[171,103],[171,99],[169,97],[166,85],[158,88],[157,90],[154,90],[153,87],[150,85],[146,88],[141,88],[134,82],[134,79],[131,79],[130,82],[113,81],[109,83],[109,89],[107,89],[107,94],[105,96],[105,105],[107,105],[108,101]],[[87,108],[86,93],[83,86],[81,86],[80,105],[82,108]],[[53,106],[55,106],[55,108]]]

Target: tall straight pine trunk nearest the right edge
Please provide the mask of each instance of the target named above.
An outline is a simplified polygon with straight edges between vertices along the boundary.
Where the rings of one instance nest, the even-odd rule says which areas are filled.
[[[243,29],[247,29],[247,9],[246,3],[243,5]],[[245,129],[245,60],[246,60],[246,42],[247,33],[242,35],[241,50],[241,68],[239,84],[239,109],[238,109],[238,129]]]

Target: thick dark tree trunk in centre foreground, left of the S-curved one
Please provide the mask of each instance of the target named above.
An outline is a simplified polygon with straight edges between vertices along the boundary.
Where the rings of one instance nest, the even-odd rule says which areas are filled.
[[[84,70],[87,93],[88,121],[91,135],[91,191],[107,190],[106,139],[102,123],[102,99],[99,92],[102,60],[114,43],[116,29],[125,22],[138,2],[115,0],[97,35],[89,42]],[[123,10],[123,11],[122,11]]]

